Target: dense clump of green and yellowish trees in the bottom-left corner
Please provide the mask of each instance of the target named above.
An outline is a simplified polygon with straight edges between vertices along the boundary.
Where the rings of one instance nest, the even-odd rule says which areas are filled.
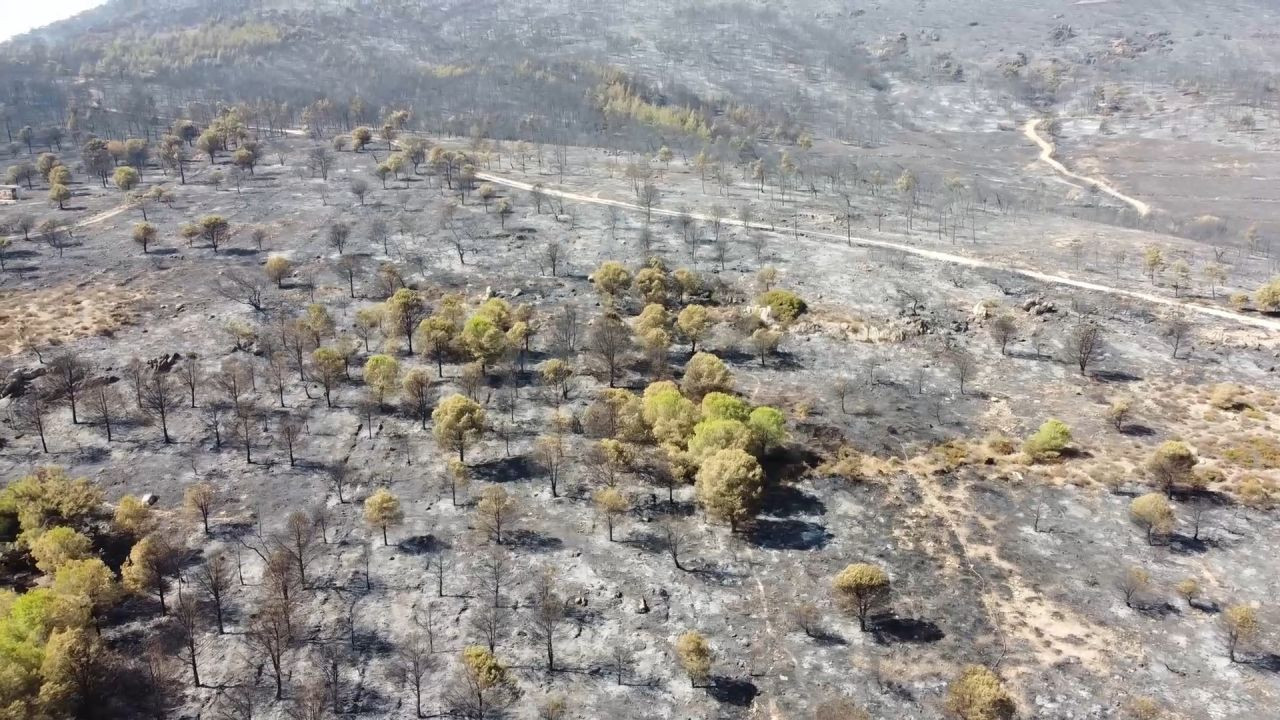
[[[137,564],[120,577],[102,560],[113,537],[151,528],[148,507],[123,498],[109,524],[102,493],[61,468],[40,468],[0,492],[0,534],[44,575],[24,592],[0,591],[0,716],[81,717],[155,707],[157,678],[108,647],[104,616],[145,591]],[[145,542],[145,541],[143,541]]]

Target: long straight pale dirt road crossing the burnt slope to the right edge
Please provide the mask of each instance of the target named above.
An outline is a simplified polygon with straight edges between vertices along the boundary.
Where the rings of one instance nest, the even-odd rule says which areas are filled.
[[[524,190],[526,192],[531,191],[534,188],[534,186],[531,183],[521,182],[521,181],[515,181],[515,179],[511,179],[511,178],[506,178],[503,176],[495,176],[493,173],[476,173],[476,177],[480,178],[480,179],[483,179],[483,181],[485,181],[485,182],[492,182],[494,184],[502,184],[502,186],[516,188],[516,190]],[[637,213],[644,213],[645,211],[645,209],[641,208],[640,205],[636,205],[634,202],[626,202],[623,200],[611,200],[611,199],[604,199],[604,197],[595,197],[593,195],[582,195],[582,193],[579,193],[579,192],[570,192],[570,191],[557,190],[557,188],[545,187],[545,186],[543,186],[540,190],[545,195],[550,195],[550,196],[554,196],[554,197],[562,197],[564,200],[572,200],[575,202],[588,202],[588,204],[591,204],[591,205],[612,205],[613,208],[621,208],[621,209],[625,209],[625,210],[632,210],[632,211],[637,211]],[[677,210],[667,210],[667,209],[660,209],[660,208],[653,208],[650,210],[650,213],[654,214],[654,215],[668,217],[668,218],[682,214],[682,213],[680,213]],[[699,214],[699,213],[689,213],[689,215],[692,217],[692,218],[695,218],[695,219],[698,219],[698,220],[703,220],[703,222],[710,220],[709,215],[703,215],[703,214]],[[751,228],[751,229],[765,231],[765,232],[776,232],[776,231],[771,229],[768,225],[765,225],[763,223],[742,223],[741,220],[739,220],[736,218],[721,218],[721,222],[724,223],[724,224],[728,224],[728,225],[748,227],[748,228]],[[787,233],[787,234],[791,234],[791,233]],[[1024,278],[1030,278],[1030,279],[1039,281],[1039,282],[1043,282],[1043,283],[1059,284],[1059,286],[1064,286],[1064,287],[1074,287],[1074,288],[1079,288],[1079,290],[1088,290],[1088,291],[1092,291],[1092,292],[1102,292],[1102,293],[1107,293],[1107,295],[1111,295],[1111,296],[1115,296],[1115,297],[1126,297],[1126,299],[1130,299],[1130,300],[1140,300],[1143,302],[1151,302],[1153,305],[1162,305],[1165,307],[1176,307],[1179,310],[1184,310],[1184,311],[1188,311],[1188,313],[1196,313],[1196,314],[1204,315],[1204,316],[1213,318],[1213,319],[1219,319],[1219,320],[1230,320],[1233,323],[1239,323],[1239,324],[1244,324],[1244,325],[1252,325],[1252,327],[1262,328],[1262,329],[1267,329],[1267,331],[1280,331],[1280,320],[1274,320],[1274,319],[1270,319],[1270,318],[1262,318],[1262,316],[1254,316],[1254,315],[1242,315],[1240,313],[1233,313],[1231,310],[1224,310],[1222,307],[1213,307],[1211,305],[1201,305],[1198,302],[1188,302],[1185,300],[1179,300],[1179,299],[1174,299],[1174,297],[1165,297],[1162,295],[1155,295],[1155,293],[1142,292],[1142,291],[1137,291],[1137,290],[1124,290],[1124,288],[1119,288],[1119,287],[1111,287],[1111,286],[1106,286],[1106,284],[1100,284],[1100,283],[1094,283],[1094,282],[1089,282],[1089,281],[1082,281],[1082,279],[1070,278],[1070,277],[1066,277],[1066,275],[1059,275],[1059,274],[1053,274],[1053,273],[1042,273],[1039,270],[1032,270],[1029,268],[1019,268],[1019,266],[1015,266],[1015,265],[1005,265],[1005,264],[1001,264],[1001,263],[995,263],[995,261],[991,261],[991,260],[983,260],[983,259],[979,259],[979,258],[969,258],[969,256],[965,256],[965,255],[954,255],[951,252],[941,252],[938,250],[928,250],[928,249],[924,249],[924,247],[914,247],[914,246],[910,246],[910,245],[901,245],[901,243],[897,243],[897,242],[890,242],[887,240],[872,240],[872,238],[858,237],[858,236],[854,236],[851,240],[846,241],[845,236],[842,236],[842,234],[826,233],[826,232],[819,232],[819,231],[804,231],[803,229],[803,231],[796,231],[796,234],[799,234],[801,237],[810,238],[810,240],[851,242],[851,243],[855,243],[855,245],[860,245],[863,247],[878,247],[878,249],[882,249],[882,250],[891,250],[891,251],[895,251],[895,252],[905,252],[908,255],[914,255],[916,258],[924,258],[927,260],[934,260],[937,263],[950,263],[950,264],[955,264],[955,265],[963,265],[963,266],[966,266],[966,268],[979,268],[979,269],[988,269],[988,270],[1004,270],[1004,272],[1007,272],[1007,273],[1014,273],[1016,275],[1021,275]]]

